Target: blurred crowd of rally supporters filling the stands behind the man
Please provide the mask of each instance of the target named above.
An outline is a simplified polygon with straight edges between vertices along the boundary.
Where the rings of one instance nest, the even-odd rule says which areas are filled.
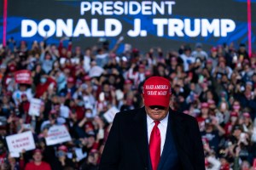
[[[143,82],[152,76],[170,80],[172,110],[197,119],[206,169],[256,167],[256,54],[249,57],[244,43],[205,51],[200,42],[146,53],[130,45],[118,54],[121,42],[73,47],[71,38],[62,38],[28,48],[10,38],[0,48],[1,170],[97,169],[111,128],[105,113],[142,107]],[[32,83],[15,82],[20,70],[32,72]],[[39,116],[28,114],[33,98],[42,101]],[[72,140],[47,145],[54,125],[65,125]],[[5,138],[26,131],[36,149],[12,156]]]

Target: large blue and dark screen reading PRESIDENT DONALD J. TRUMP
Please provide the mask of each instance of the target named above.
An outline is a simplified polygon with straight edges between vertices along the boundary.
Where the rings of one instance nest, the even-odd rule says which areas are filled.
[[[247,0],[13,0],[8,2],[7,39],[32,42],[49,37],[49,43],[58,43],[61,37],[73,37],[75,45],[86,48],[100,37],[107,38],[110,46],[124,37],[119,51],[125,43],[142,51],[158,46],[177,49],[195,42],[207,47],[230,42],[238,46],[247,43],[247,22],[251,22],[255,49],[256,1],[250,2],[251,20]]]

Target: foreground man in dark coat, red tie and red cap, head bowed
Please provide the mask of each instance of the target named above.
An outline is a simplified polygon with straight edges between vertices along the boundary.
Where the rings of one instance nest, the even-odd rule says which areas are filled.
[[[201,134],[195,118],[172,111],[171,84],[150,77],[143,85],[144,107],[116,114],[100,170],[203,170]]]

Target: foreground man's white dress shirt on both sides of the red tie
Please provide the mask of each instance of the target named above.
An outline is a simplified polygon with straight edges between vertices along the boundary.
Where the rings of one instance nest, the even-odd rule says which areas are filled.
[[[167,130],[167,124],[168,124],[168,116],[169,116],[169,113],[163,120],[160,121],[160,123],[158,125],[158,128],[160,130],[160,136],[161,136],[160,155],[162,155],[162,151],[164,149],[164,145],[165,145],[165,141],[166,141],[166,130]],[[148,115],[147,115],[147,126],[148,126],[148,144],[149,144],[151,131],[154,127],[154,120],[151,119],[151,117]]]

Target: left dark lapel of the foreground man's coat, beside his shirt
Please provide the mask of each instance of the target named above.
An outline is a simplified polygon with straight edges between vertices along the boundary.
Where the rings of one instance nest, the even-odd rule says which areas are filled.
[[[134,139],[144,163],[148,166],[148,131],[147,131],[147,116],[145,108],[137,111],[134,117],[134,124],[132,126],[134,132]]]

